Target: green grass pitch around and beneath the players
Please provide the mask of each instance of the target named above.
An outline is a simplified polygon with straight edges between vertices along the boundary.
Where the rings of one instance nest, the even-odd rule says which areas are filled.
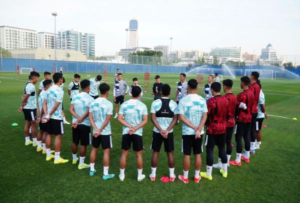
[[[81,80],[95,77],[96,74],[81,73]],[[149,90],[154,82],[151,74]],[[64,74],[63,105],[67,121],[71,121],[68,111],[69,96],[67,85],[72,80],[73,74]],[[160,74],[161,81],[171,85],[171,99],[174,99],[175,82],[179,80],[177,74]],[[132,77],[139,79],[143,87],[143,74],[123,74],[128,84]],[[187,79],[195,76],[187,76]],[[43,78],[42,74],[39,79]],[[224,77],[226,78],[226,77]],[[241,167],[230,166],[228,177],[223,178],[217,169],[212,170],[213,180],[202,179],[198,184],[193,180],[194,168],[191,164],[189,170],[189,184],[184,184],[177,178],[175,182],[163,183],[159,178],[168,175],[167,158],[161,150],[156,170],[156,181],[148,178],[150,173],[150,150],[153,125],[150,122],[143,129],[143,174],[146,178],[136,181],[137,171],[135,155],[130,150],[125,180],[118,180],[119,159],[121,155],[121,125],[111,119],[113,148],[110,154],[109,171],[116,177],[102,180],[102,151],[99,150],[95,168],[97,173],[88,176],[88,169],[78,170],[71,163],[71,126],[65,125],[65,134],[62,138],[61,156],[70,161],[65,164],[54,165],[53,161],[45,161],[45,155],[37,153],[31,145],[24,146],[23,125],[24,117],[17,112],[21,104],[21,95],[28,75],[15,73],[0,73],[0,202],[61,202],[61,201],[98,201],[98,202],[295,202],[300,197],[300,121],[270,117],[264,120],[266,128],[262,129],[262,144],[255,155],[251,155],[250,164],[242,163]],[[109,82],[112,92],[113,75],[108,74],[103,78]],[[239,77],[234,80],[233,93],[241,91]],[[295,80],[261,80],[262,90],[266,99],[268,114],[300,119],[300,82]],[[38,85],[36,85],[36,90]],[[223,93],[222,93],[223,94]],[[203,94],[201,93],[201,96]],[[142,102],[147,105],[148,112],[152,102],[149,92],[144,92]],[[112,101],[112,95],[108,99]],[[128,99],[126,96],[125,99]],[[17,127],[11,126],[18,123]],[[181,150],[181,123],[174,128],[175,140],[175,174],[182,174]],[[235,144],[234,136],[232,142]],[[85,162],[89,163],[88,146]],[[205,151],[205,147],[203,146]],[[233,147],[231,160],[235,158]],[[205,171],[205,152],[202,154],[201,170]],[[214,160],[217,160],[217,150],[214,150]],[[193,161],[193,157],[191,156]],[[214,161],[214,162],[215,162]],[[193,163],[193,162],[191,162]]]

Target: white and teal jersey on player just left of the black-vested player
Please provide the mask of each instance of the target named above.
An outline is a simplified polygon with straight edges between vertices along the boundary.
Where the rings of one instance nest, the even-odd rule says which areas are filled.
[[[143,115],[148,115],[146,105],[137,99],[129,99],[122,103],[118,113],[124,115],[125,122],[134,127],[142,121]],[[123,126],[122,134],[128,134],[128,130],[129,128]],[[134,134],[142,136],[142,128],[136,130]]]

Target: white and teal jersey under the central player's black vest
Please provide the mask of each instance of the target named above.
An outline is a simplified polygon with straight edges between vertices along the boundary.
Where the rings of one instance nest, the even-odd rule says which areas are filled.
[[[165,98],[165,97],[161,97],[161,98]],[[150,113],[156,113],[157,111],[159,111],[161,106],[162,106],[162,102],[160,99],[154,100],[151,104]],[[174,102],[173,100],[170,100],[169,108],[174,114],[177,114],[177,103],[176,102]],[[166,130],[168,128],[168,126],[170,126],[172,120],[173,120],[173,118],[156,117],[156,121],[162,130]],[[159,130],[155,126],[153,128],[153,131],[159,133]],[[173,128],[169,132],[173,132]]]

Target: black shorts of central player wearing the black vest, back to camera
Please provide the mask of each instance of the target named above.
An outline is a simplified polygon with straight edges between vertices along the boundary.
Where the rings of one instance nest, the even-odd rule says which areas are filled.
[[[161,134],[159,132],[153,131],[152,144],[150,146],[150,149],[153,149],[153,151],[159,152],[162,142],[164,145],[165,152],[174,151],[174,136],[173,136],[172,132],[168,133],[167,138],[165,139],[161,136]]]

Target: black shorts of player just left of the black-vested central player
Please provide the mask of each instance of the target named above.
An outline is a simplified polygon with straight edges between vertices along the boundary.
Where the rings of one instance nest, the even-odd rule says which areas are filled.
[[[121,148],[124,150],[129,150],[131,147],[131,142],[133,151],[140,151],[143,149],[142,136],[136,134],[123,134]]]

